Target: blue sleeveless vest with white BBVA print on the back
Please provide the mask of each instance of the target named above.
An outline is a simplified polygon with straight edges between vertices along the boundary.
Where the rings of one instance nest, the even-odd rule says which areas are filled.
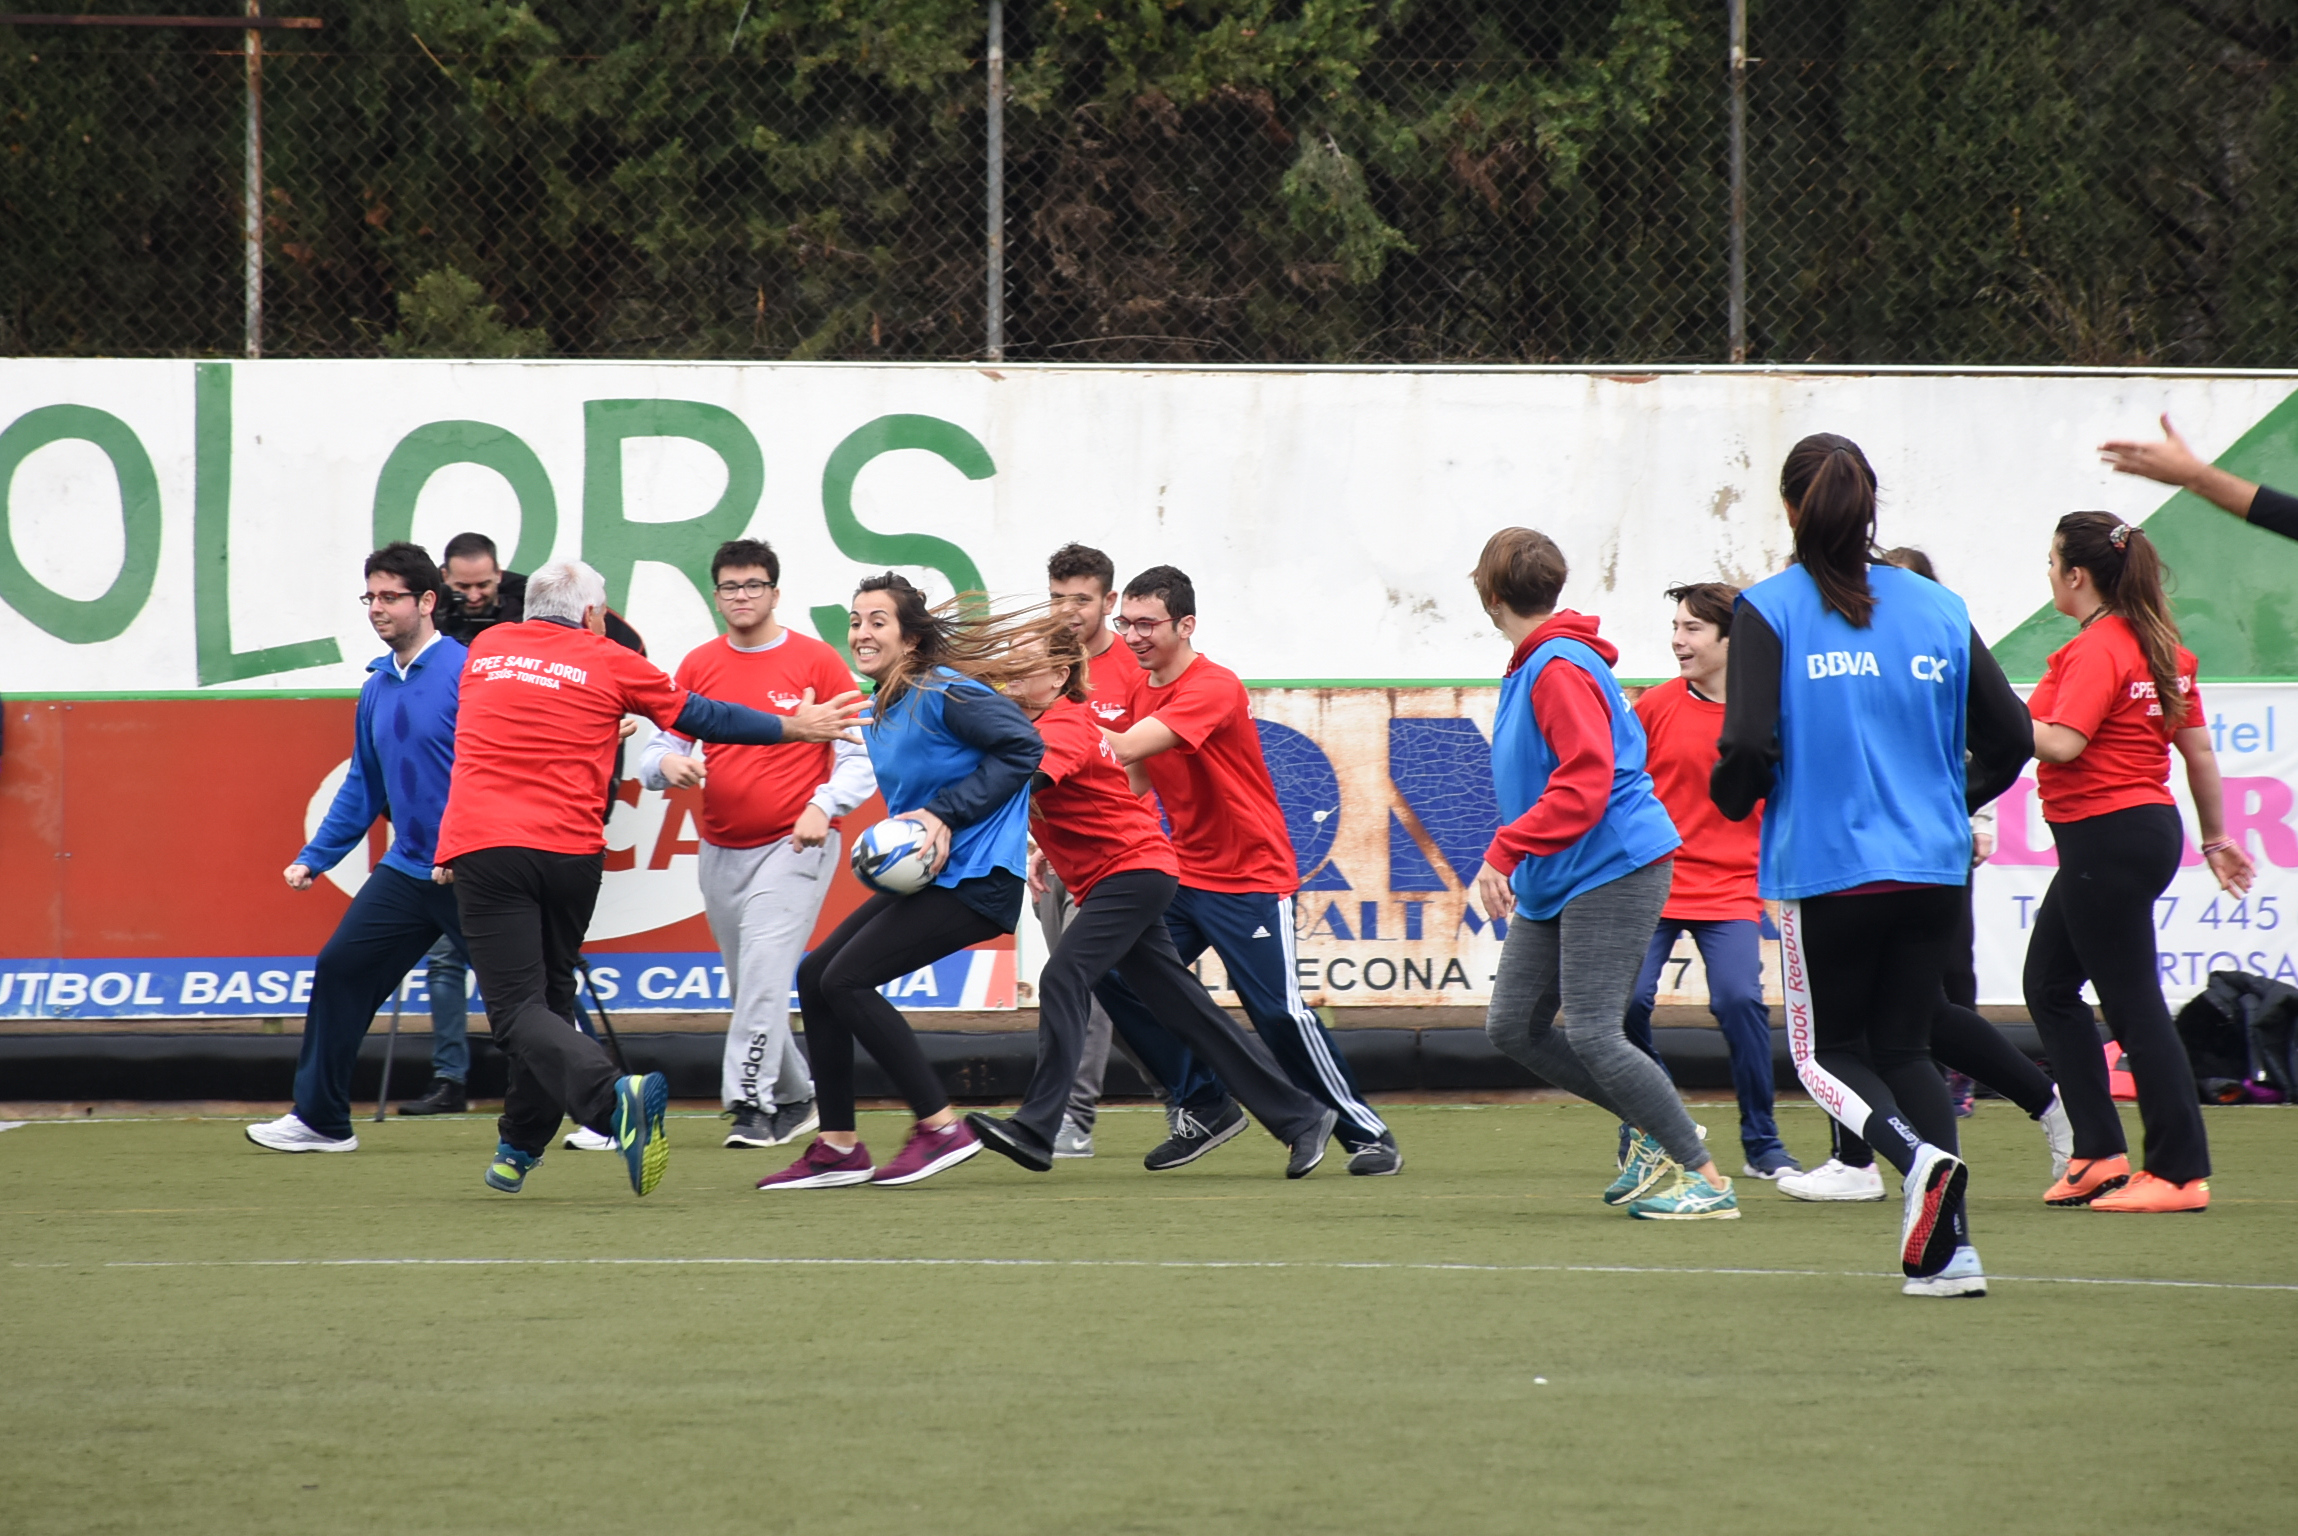
[[[1972,616],[1898,566],[1868,566],[1868,591],[1864,630],[1820,602],[1802,566],[1740,593],[1779,637],[1779,770],[1756,871],[1774,901],[1875,881],[1960,885],[1972,871]]]

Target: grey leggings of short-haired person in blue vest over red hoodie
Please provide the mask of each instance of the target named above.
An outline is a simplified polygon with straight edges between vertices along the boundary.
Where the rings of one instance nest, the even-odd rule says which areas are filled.
[[[1547,922],[1512,917],[1485,1035],[1556,1088],[1641,1127],[1684,1168],[1701,1168],[1707,1147],[1675,1083],[1627,1044],[1625,1030],[1673,876],[1675,862],[1664,858],[1581,892]]]

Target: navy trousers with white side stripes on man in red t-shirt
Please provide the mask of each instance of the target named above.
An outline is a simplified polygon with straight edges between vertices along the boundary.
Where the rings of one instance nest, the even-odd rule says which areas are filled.
[[[1183,885],[1165,908],[1165,931],[1181,963],[1195,961],[1211,950],[1229,973],[1229,986],[1246,1007],[1246,1019],[1268,1046],[1268,1053],[1285,1067],[1294,1088],[1340,1113],[1335,1136],[1340,1145],[1356,1152],[1388,1134],[1388,1124],[1365,1104],[1365,1092],[1356,1085],[1349,1060],[1333,1044],[1308,1003],[1301,1000],[1301,980],[1294,975],[1294,899],[1262,892],[1195,890]],[[1174,1035],[1158,1023],[1131,989],[1112,986],[1103,980],[1094,986],[1110,1023],[1126,1037],[1126,1044],[1144,1067],[1165,1076],[1163,1060],[1186,1058],[1186,1074],[1202,1074],[1204,1067],[1188,1055]],[[1177,1067],[1179,1072],[1181,1067]],[[1165,1076],[1165,1088],[1177,1104],[1197,1106],[1181,1090],[1181,1081]],[[1216,1095],[1227,1090],[1213,1078]],[[1202,1090],[1195,1090],[1202,1095]]]

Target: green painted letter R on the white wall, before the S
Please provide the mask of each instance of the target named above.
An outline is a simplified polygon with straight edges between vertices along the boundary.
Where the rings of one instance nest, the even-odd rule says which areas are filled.
[[[676,566],[710,602],[710,556],[742,536],[765,490],[758,439],[740,416],[701,400],[586,400],[581,423],[581,552],[607,577],[607,605],[630,602],[630,568],[639,561]],[[632,437],[687,437],[710,448],[726,460],[726,494],[683,522],[632,522],[623,515],[623,441]],[[710,616],[726,628],[715,602]]]

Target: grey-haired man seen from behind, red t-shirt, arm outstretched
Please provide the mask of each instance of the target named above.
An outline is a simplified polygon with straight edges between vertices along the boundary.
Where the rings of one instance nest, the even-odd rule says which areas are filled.
[[[788,715],[768,715],[680,688],[604,630],[600,573],[552,561],[526,579],[524,621],[478,635],[462,674],[432,878],[455,885],[487,1026],[510,1058],[501,1143],[487,1166],[487,1186],[506,1193],[542,1161],[561,1115],[611,1136],[641,1196],[669,1161],[669,1081],[618,1076],[607,1051],[574,1028],[574,963],[597,904],[600,809],[623,715],[726,745],[857,740],[859,692],[816,701],[807,690]]]

